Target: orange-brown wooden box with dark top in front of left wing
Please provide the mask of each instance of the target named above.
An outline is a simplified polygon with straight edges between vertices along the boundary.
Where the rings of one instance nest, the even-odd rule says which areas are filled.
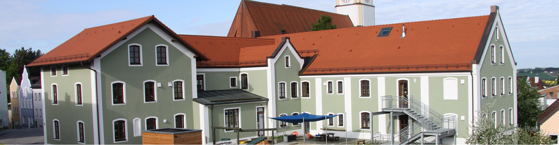
[[[202,130],[184,128],[143,130],[142,144],[202,144]]]

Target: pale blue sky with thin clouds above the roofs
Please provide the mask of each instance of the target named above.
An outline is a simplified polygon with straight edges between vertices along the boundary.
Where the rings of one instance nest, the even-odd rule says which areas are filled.
[[[335,0],[259,0],[335,12]],[[174,32],[225,36],[240,0],[228,1],[1,1],[0,48],[46,53],[84,28],[155,15]],[[559,67],[559,1],[373,0],[376,24],[489,15],[500,7],[518,69]]]

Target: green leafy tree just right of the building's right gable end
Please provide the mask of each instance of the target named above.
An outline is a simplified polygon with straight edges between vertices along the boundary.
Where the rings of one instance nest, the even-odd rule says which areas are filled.
[[[539,100],[538,88],[529,84],[526,79],[517,80],[518,126],[520,128],[535,128],[538,115],[544,112]]]

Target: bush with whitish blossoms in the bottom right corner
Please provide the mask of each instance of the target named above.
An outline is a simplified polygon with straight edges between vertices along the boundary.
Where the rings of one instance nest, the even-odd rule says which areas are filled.
[[[495,100],[487,104],[484,110],[477,112],[481,117],[476,117],[476,122],[470,126],[472,132],[468,132],[466,144],[553,144],[555,142],[543,132],[506,127],[500,123],[495,125],[495,120],[489,118],[494,104]]]

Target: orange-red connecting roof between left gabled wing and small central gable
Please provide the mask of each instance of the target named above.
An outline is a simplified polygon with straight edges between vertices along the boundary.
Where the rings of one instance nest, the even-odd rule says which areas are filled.
[[[207,56],[210,59],[209,61],[197,62],[197,67],[239,67],[266,65],[266,56],[247,59],[246,57],[244,57],[245,54],[243,54],[243,57],[240,58],[239,56],[241,56],[241,48],[274,45],[274,40],[272,38],[239,38],[200,35],[179,35],[179,37],[181,37],[184,41],[195,47],[198,51],[200,51],[203,55]],[[255,52],[250,52],[250,55],[252,54],[255,54]],[[269,54],[272,53],[270,52]]]

